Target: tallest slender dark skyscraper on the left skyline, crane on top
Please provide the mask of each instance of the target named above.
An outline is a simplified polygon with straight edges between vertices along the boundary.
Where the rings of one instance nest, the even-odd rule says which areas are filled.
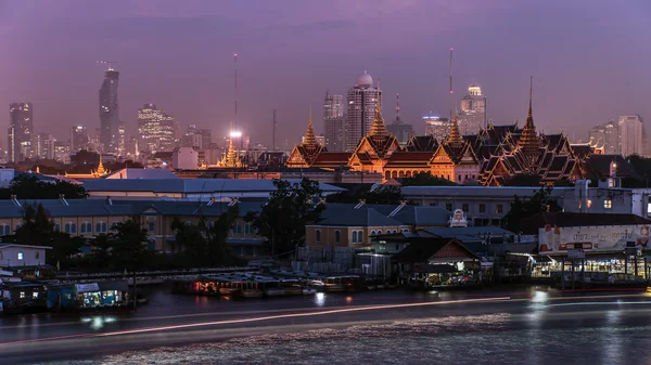
[[[117,104],[117,86],[119,73],[108,67],[104,73],[104,81],[100,88],[100,142],[105,153],[115,154],[119,143],[119,109]]]

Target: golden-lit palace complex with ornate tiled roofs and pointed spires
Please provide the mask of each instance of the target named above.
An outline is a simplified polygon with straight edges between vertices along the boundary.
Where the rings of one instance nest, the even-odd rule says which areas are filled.
[[[304,142],[292,151],[288,167],[347,167],[381,173],[384,181],[430,172],[459,184],[476,181],[487,186],[503,185],[518,174],[533,174],[553,184],[582,178],[583,162],[592,154],[589,145],[571,145],[563,133],[536,131],[531,90],[524,128],[490,123],[477,134],[461,135],[455,117],[450,133],[442,141],[414,135],[405,147],[386,130],[380,104],[371,129],[352,153],[331,153],[316,143],[310,113]]]

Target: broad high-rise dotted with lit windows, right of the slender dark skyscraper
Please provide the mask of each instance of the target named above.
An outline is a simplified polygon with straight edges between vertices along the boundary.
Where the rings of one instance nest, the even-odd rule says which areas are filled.
[[[174,117],[154,104],[144,104],[144,107],[138,110],[138,134],[142,140],[142,151],[174,151]]]

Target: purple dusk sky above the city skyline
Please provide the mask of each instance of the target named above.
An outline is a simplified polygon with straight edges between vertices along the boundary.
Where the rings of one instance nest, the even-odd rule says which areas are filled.
[[[120,71],[120,119],[157,104],[183,129],[234,119],[253,141],[293,145],[322,131],[326,91],[345,94],[363,70],[381,79],[383,116],[418,133],[421,116],[448,110],[448,56],[455,97],[477,83],[495,125],[524,121],[534,77],[539,131],[586,138],[622,114],[651,122],[651,2],[648,0],[0,0],[0,105],[34,103],[36,132],[99,127],[105,65]],[[9,112],[0,123],[5,145]],[[0,119],[2,120],[2,119]],[[280,144],[280,142],[279,142]]]

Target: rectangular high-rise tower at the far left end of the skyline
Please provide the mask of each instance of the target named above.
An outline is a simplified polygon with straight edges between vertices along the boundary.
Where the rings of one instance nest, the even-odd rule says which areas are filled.
[[[9,104],[7,146],[10,162],[22,162],[34,154],[34,107],[31,103]]]

